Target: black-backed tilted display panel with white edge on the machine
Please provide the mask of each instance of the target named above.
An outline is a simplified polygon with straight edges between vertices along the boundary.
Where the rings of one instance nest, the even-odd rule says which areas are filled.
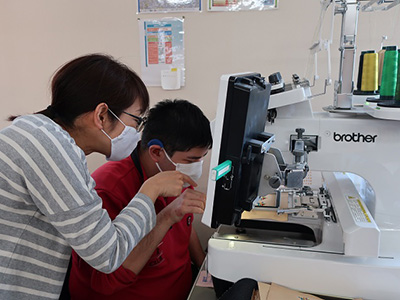
[[[258,73],[221,78],[208,207],[203,215],[206,225],[237,224],[243,210],[252,208],[263,163],[262,145],[267,139],[264,128],[270,90],[270,84]],[[212,176],[213,169],[227,163],[231,164],[229,173],[218,179]]]

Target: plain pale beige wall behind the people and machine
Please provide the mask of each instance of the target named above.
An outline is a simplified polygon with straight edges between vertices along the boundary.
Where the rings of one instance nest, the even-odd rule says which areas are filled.
[[[293,73],[305,75],[319,3],[280,0],[279,9],[272,11],[138,15],[134,0],[0,0],[0,128],[10,114],[45,108],[52,74],[77,56],[108,53],[140,74],[138,17],[185,17],[186,86],[179,91],[150,87],[151,103],[188,99],[213,119],[222,74],[254,71],[268,76],[280,71],[286,80]],[[335,22],[333,79],[338,73],[339,16]],[[388,36],[388,45],[400,45],[400,6],[360,13],[357,56],[361,50],[378,50],[382,35]],[[320,67],[324,76],[325,61]],[[321,91],[322,85],[314,90]],[[330,87],[327,95],[313,100],[314,109],[331,104],[332,95]],[[91,170],[103,162],[99,155],[88,157]],[[200,190],[205,191],[203,177]],[[200,234],[205,241],[209,231],[201,227]]]

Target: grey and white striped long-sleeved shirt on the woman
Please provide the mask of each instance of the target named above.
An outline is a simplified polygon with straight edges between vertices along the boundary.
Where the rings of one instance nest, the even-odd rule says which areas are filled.
[[[137,194],[111,221],[85,154],[49,118],[19,117],[0,131],[0,299],[58,299],[71,247],[111,273],[155,223]]]

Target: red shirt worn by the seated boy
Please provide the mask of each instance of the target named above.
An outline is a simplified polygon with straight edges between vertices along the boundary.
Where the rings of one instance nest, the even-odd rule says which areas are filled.
[[[108,162],[93,173],[96,190],[111,219],[136,195],[147,179],[143,168],[142,174],[144,178],[131,157]],[[174,199],[158,198],[155,202],[156,213]],[[122,266],[111,274],[104,274],[93,269],[73,252],[69,282],[71,299],[187,299],[192,282],[189,255],[192,221],[193,214],[187,214],[179,223],[174,224],[139,274]]]

